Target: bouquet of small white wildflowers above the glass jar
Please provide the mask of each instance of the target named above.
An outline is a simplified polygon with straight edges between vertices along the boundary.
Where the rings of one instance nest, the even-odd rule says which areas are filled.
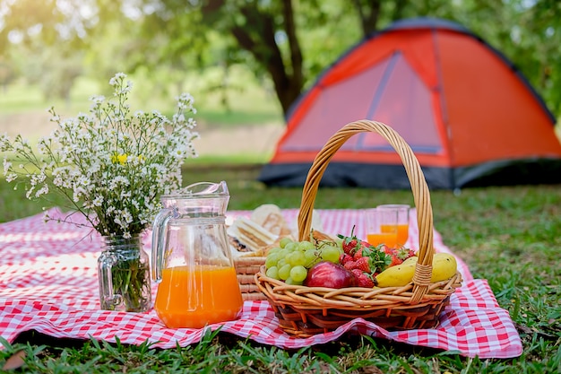
[[[39,139],[37,152],[17,135],[0,136],[7,181],[23,182],[27,197],[65,196],[69,207],[84,213],[102,236],[131,238],[160,210],[161,194],[181,187],[181,166],[196,157],[193,140],[194,98],[177,98],[171,119],[158,111],[131,113],[132,83],[116,74],[109,84],[115,100],[91,98],[89,114],[62,119],[49,112],[56,130]],[[47,216],[46,219],[49,219]]]

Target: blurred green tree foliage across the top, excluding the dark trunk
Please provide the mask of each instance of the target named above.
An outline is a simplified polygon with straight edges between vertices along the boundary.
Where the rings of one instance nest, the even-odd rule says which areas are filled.
[[[459,22],[502,51],[529,78],[556,117],[561,115],[557,68],[561,3],[555,0],[68,0],[61,4],[0,0],[4,92],[22,81],[39,86],[45,100],[70,100],[79,78],[106,83],[121,71],[141,76],[153,98],[193,91],[199,84],[197,76],[212,70],[212,78],[200,84],[200,91],[192,92],[200,98],[225,87],[243,90],[244,85],[235,79],[240,69],[270,92],[275,89],[275,69],[284,74],[280,84],[305,90],[367,32],[401,18],[429,16]],[[287,4],[292,13],[286,12]],[[263,25],[255,20],[271,20],[274,40],[259,38]],[[236,28],[252,38],[250,48],[242,48],[234,38]],[[298,46],[289,44],[292,31]],[[295,47],[301,51],[301,66]],[[272,67],[277,49],[281,60],[275,64],[281,65]],[[237,103],[222,96],[220,105]]]

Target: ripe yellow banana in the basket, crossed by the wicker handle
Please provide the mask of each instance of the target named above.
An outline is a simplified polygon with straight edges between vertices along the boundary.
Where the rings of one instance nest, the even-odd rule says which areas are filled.
[[[409,257],[401,265],[394,265],[385,269],[375,277],[375,285],[378,287],[401,287],[413,280],[415,265],[419,257]],[[450,279],[457,271],[456,258],[448,253],[436,253],[433,256],[433,274],[431,283]]]

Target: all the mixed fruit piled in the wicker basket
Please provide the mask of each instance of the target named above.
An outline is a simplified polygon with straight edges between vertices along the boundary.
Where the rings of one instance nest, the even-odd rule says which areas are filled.
[[[341,289],[345,287],[401,287],[413,280],[419,257],[410,248],[372,246],[356,236],[338,235],[309,240],[280,239],[269,249],[265,275],[287,284]],[[433,257],[431,282],[441,282],[457,272],[455,257]]]

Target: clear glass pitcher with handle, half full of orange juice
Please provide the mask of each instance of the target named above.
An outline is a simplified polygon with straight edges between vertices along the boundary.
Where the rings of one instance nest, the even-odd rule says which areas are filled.
[[[236,319],[244,301],[226,233],[226,182],[195,183],[161,202],[151,251],[158,317],[172,328]]]

